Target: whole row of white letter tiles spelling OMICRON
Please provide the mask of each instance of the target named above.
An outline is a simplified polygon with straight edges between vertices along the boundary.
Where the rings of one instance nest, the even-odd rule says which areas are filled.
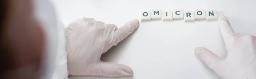
[[[195,10],[195,11],[183,11],[182,9],[175,10],[161,10],[154,9],[149,11],[142,11],[141,21],[149,20],[217,20],[217,12],[215,10]]]

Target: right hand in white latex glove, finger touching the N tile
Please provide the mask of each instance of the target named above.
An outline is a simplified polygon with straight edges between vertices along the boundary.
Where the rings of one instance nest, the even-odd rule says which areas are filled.
[[[195,48],[195,54],[223,79],[256,79],[256,37],[235,33],[227,18],[218,19],[218,26],[227,48],[221,59],[207,48]]]

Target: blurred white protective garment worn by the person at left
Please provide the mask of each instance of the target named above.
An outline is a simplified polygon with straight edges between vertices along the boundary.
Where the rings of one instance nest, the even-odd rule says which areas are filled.
[[[57,19],[49,0],[35,0],[35,16],[47,36],[47,44],[40,79],[67,79],[67,53],[65,52],[64,25]]]

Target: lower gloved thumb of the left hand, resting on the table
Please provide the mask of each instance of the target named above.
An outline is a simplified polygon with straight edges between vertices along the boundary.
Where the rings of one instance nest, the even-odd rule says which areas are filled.
[[[128,66],[113,62],[99,62],[88,72],[89,76],[122,77],[133,75],[132,69]]]

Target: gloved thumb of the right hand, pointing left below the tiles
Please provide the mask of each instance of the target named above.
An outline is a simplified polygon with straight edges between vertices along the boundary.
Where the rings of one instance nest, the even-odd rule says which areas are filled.
[[[204,47],[195,48],[194,51],[195,55],[198,56],[198,58],[210,69],[215,72],[220,70],[220,64],[222,62],[222,59],[213,54],[212,51],[209,51],[207,48]]]

